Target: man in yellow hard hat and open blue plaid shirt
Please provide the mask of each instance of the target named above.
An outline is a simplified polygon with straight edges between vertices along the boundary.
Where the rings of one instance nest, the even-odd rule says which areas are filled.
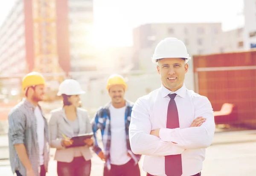
[[[140,155],[131,152],[129,124],[133,103],[125,100],[126,83],[121,75],[111,75],[107,91],[111,102],[99,108],[93,119],[94,151],[105,161],[104,176],[140,176]],[[104,152],[99,147],[96,132],[101,130]]]

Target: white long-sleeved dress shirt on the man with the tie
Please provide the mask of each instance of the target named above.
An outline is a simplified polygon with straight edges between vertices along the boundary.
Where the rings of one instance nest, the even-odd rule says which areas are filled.
[[[167,129],[168,95],[172,93],[177,94],[175,102],[180,128]],[[200,116],[206,118],[201,127],[190,127]],[[159,128],[160,138],[150,135],[151,130]],[[214,116],[208,98],[186,89],[185,85],[175,92],[162,86],[139,98],[132,109],[131,150],[145,155],[143,170],[151,175],[166,176],[164,156],[177,154],[182,158],[182,176],[199,173],[205,159],[205,148],[212,143],[214,132]]]

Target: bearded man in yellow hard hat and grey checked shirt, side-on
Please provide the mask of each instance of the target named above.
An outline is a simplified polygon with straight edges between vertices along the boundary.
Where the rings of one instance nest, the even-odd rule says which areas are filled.
[[[45,176],[49,162],[49,129],[38,102],[43,100],[45,80],[38,72],[22,80],[26,98],[9,113],[9,153],[17,176]]]

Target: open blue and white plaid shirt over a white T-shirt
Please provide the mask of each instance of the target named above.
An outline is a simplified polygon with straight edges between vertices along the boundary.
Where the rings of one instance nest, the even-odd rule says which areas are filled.
[[[111,103],[108,103],[105,105],[105,107],[101,107],[93,121],[93,133],[94,133],[94,138],[95,138],[95,145],[93,147],[93,150],[95,153],[99,154],[102,149],[98,145],[98,141],[96,138],[96,132],[97,130],[101,130],[102,134],[102,142],[103,142],[103,147],[104,147],[104,155],[107,161],[105,162],[105,166],[110,169],[110,157],[109,157],[109,151],[110,151],[110,144],[111,144],[111,126],[110,126],[110,107]],[[140,160],[141,155],[135,155],[131,151],[131,146],[130,146],[130,141],[129,141],[129,126],[131,122],[131,111],[133,107],[133,103],[130,101],[126,101],[126,110],[125,110],[125,133],[126,133],[126,144],[127,144],[127,151],[131,155],[132,159],[134,159],[135,164],[137,164]]]

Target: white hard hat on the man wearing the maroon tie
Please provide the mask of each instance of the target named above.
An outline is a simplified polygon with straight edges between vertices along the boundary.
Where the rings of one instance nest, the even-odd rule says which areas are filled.
[[[191,59],[185,44],[177,38],[165,38],[157,44],[152,61],[157,63],[163,58],[185,58],[186,63]]]

